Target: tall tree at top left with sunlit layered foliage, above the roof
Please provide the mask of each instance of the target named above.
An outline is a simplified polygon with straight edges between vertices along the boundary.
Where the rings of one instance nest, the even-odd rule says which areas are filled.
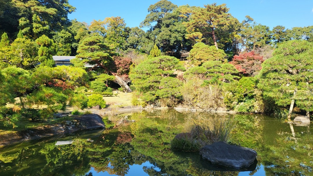
[[[51,37],[69,24],[67,15],[75,11],[68,0],[57,1],[14,1],[11,4],[18,16],[17,29],[29,38],[36,39],[42,35]]]

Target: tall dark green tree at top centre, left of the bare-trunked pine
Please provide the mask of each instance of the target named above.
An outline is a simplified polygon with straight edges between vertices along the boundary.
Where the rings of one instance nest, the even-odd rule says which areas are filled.
[[[151,4],[148,12],[140,27],[150,29],[146,33],[137,28],[133,29],[130,34],[133,46],[148,53],[147,51],[156,44],[162,53],[177,58],[180,51],[190,50],[190,42],[185,39],[186,28],[182,24],[187,18],[181,17],[182,8],[177,8],[177,5],[170,1],[161,0]]]

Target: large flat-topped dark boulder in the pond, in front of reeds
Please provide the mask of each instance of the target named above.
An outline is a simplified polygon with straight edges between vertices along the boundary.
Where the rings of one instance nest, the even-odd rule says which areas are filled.
[[[250,148],[215,142],[201,148],[200,155],[213,164],[239,169],[249,167],[254,162],[257,153]]]

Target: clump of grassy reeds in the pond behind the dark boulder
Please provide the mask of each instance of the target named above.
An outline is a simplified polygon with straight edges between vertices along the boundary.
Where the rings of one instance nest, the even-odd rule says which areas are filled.
[[[193,124],[190,132],[182,133],[172,140],[171,147],[177,151],[196,152],[214,142],[223,141],[227,143],[233,127],[230,121],[218,123],[213,120],[212,128],[205,124]]]

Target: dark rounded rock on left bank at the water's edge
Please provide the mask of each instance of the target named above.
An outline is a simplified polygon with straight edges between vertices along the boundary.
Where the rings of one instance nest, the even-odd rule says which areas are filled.
[[[86,114],[79,117],[75,117],[76,125],[84,130],[104,128],[105,125],[101,116],[98,114]]]

